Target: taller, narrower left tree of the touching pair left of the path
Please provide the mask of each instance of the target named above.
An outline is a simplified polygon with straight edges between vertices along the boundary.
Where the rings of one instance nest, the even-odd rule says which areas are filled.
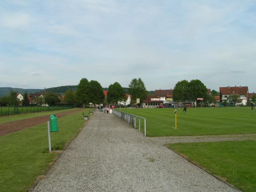
[[[88,86],[89,81],[83,78],[80,80],[76,90],[76,101],[82,104],[83,108],[85,108],[85,104],[89,103]]]

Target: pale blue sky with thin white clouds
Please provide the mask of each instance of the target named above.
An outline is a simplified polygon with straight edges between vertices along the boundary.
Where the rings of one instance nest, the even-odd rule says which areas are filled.
[[[256,0],[1,0],[0,87],[77,85],[256,92]]]

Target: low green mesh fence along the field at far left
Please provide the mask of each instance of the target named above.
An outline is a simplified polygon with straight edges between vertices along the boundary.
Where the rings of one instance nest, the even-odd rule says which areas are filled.
[[[41,106],[29,106],[29,107],[18,107],[18,111],[20,114],[22,113],[38,113],[43,111],[57,111],[62,109],[73,108],[73,106],[49,106],[49,107],[41,107]],[[0,106],[0,116],[9,116],[18,114],[17,108],[14,107],[2,107]]]

